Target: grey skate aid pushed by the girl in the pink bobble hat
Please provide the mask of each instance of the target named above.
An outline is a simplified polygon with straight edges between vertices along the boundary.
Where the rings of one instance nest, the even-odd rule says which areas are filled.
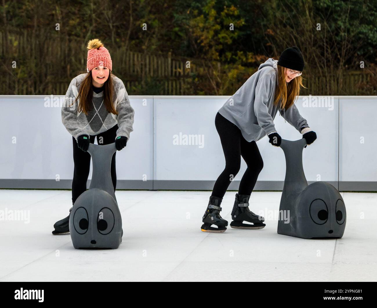
[[[116,249],[122,242],[122,218],[110,171],[115,151],[115,143],[89,144],[92,180],[89,189],[77,198],[69,218],[70,237],[76,249]]]

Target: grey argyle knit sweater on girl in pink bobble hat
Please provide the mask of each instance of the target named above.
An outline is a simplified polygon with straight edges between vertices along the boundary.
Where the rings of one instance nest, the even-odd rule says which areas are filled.
[[[77,110],[80,100],[77,100],[77,102],[73,104],[80,90],[80,85],[86,75],[86,73],[80,74],[70,82],[64,100],[65,103],[61,108],[61,122],[63,122],[67,131],[74,136],[76,140],[78,136],[81,135],[93,136],[100,134],[116,124],[118,124],[119,128],[116,131],[115,139],[119,136],[125,136],[129,140],[130,132],[133,131],[132,125],[135,111],[130,105],[130,100],[122,80],[118,77],[113,78],[113,104],[118,115],[107,111],[103,101],[103,91],[98,94],[93,91],[90,110],[86,115],[84,112],[78,112]]]

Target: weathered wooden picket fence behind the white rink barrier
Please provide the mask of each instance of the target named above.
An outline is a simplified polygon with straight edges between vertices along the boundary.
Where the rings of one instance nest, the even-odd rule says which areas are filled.
[[[55,36],[53,36],[55,35]],[[66,93],[70,80],[79,71],[86,71],[87,50],[81,41],[46,31],[38,33],[21,30],[0,31],[0,94],[55,94]],[[168,54],[148,54],[117,48],[111,51],[113,73],[119,76],[129,94],[192,95],[190,83],[193,74],[207,65],[203,59],[190,59]],[[16,63],[17,70],[12,68]],[[186,63],[190,62],[190,68]],[[217,69],[221,63],[217,63]],[[27,71],[27,69],[30,71]],[[308,73],[310,75],[308,75]],[[322,75],[322,76],[321,76]],[[198,83],[208,82],[213,70],[198,75]],[[368,95],[359,85],[375,78],[364,71],[345,71],[340,80],[336,75],[305,71],[300,95]],[[246,81],[246,80],[245,80]],[[227,93],[233,94],[242,85],[234,84]],[[146,93],[149,87],[154,88]],[[138,93],[138,89],[142,93]],[[131,90],[131,91],[130,91]]]

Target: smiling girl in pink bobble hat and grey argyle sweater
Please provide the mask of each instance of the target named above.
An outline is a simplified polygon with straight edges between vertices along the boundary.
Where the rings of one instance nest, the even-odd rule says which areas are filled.
[[[61,120],[73,142],[72,205],[86,191],[90,168],[89,143],[94,143],[97,136],[98,145],[115,142],[116,149],[120,151],[133,131],[135,114],[122,80],[111,73],[109,51],[97,38],[88,42],[87,49],[86,72],[72,79],[61,108]],[[115,154],[111,161],[114,191]],[[69,233],[69,216],[56,222],[54,228],[53,234]]]

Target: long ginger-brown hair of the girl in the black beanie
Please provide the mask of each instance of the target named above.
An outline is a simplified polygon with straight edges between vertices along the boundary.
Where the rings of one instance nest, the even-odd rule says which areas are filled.
[[[307,88],[302,84],[302,75],[295,77],[287,84],[285,81],[284,69],[284,66],[277,66],[278,77],[274,96],[274,105],[278,105],[279,101],[281,100],[281,108],[287,110],[294,104],[296,96],[300,95],[300,86],[305,89]]]

